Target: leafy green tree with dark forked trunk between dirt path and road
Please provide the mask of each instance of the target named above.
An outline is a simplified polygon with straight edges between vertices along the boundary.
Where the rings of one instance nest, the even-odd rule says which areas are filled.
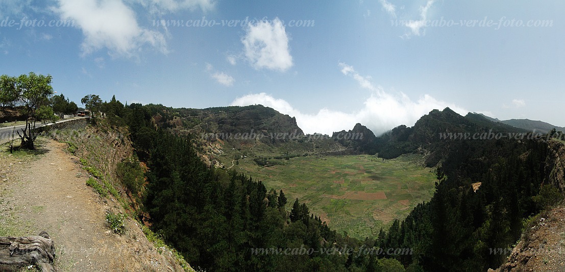
[[[37,137],[34,133],[36,120],[39,117],[37,111],[41,106],[49,104],[49,98],[53,95],[51,79],[50,75],[36,75],[34,72],[29,72],[29,75],[20,75],[16,79],[15,86],[19,103],[24,106],[25,114],[29,116],[25,122],[23,135],[20,135],[20,146],[23,148],[35,149],[33,141]],[[44,112],[40,111],[40,113]]]

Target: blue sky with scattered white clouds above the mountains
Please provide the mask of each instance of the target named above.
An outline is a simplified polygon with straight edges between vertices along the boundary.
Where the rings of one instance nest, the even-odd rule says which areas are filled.
[[[80,104],[261,104],[306,133],[433,109],[565,127],[565,1],[0,0],[0,74]]]

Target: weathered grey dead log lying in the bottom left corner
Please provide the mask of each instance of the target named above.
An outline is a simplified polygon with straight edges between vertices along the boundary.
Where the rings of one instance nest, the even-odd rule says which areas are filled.
[[[46,231],[38,236],[0,237],[0,270],[36,265],[42,272],[53,272],[54,257],[55,244]]]

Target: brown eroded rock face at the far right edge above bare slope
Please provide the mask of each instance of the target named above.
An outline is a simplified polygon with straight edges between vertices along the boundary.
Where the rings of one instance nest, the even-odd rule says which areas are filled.
[[[547,141],[548,154],[545,159],[546,181],[565,192],[565,141]]]

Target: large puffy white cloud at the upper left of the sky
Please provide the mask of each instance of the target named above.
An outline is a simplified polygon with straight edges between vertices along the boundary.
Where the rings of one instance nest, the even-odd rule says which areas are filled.
[[[121,0],[59,0],[55,11],[63,20],[75,20],[85,38],[82,54],[103,48],[114,56],[132,57],[144,45],[167,53],[162,33],[141,28],[132,8]]]

